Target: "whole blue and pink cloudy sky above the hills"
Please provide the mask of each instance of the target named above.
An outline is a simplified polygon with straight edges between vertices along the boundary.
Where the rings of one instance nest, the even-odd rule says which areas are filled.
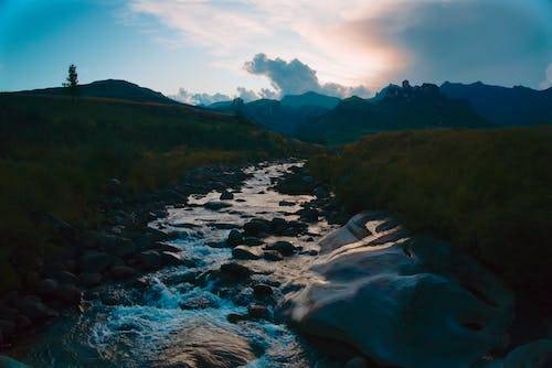
[[[552,86],[552,0],[0,0],[0,90],[126,79],[183,101],[390,83]]]

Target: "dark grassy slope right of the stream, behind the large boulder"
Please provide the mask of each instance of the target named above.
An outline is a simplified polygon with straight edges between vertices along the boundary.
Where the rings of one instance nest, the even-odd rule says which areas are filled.
[[[311,160],[351,212],[388,208],[531,293],[552,279],[552,128],[368,137]],[[550,299],[550,295],[544,295]]]

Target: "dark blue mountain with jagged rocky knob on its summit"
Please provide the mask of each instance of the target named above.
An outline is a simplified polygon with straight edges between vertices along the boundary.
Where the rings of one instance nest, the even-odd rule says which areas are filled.
[[[362,136],[388,130],[477,128],[488,123],[467,101],[453,100],[436,85],[391,85],[373,99],[351,97],[335,109],[302,125],[301,139],[330,145],[352,142]]]

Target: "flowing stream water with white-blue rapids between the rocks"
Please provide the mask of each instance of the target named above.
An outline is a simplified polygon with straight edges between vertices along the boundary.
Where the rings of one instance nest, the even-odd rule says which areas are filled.
[[[217,270],[232,259],[232,249],[216,247],[232,226],[240,227],[251,218],[283,217],[297,219],[299,204],[311,201],[306,195],[284,195],[270,190],[270,180],[291,164],[265,164],[244,171],[253,174],[241,191],[234,193],[232,206],[210,210],[201,206],[219,201],[221,193],[192,195],[189,206],[169,208],[169,216],[150,226],[178,231],[172,246],[182,249],[182,258],[195,267],[169,267],[146,274],[141,286],[110,284],[97,291],[83,313],[65,312],[25,348],[24,362],[33,367],[185,367],[179,356],[190,349],[240,350],[243,342],[254,353],[247,367],[329,367],[331,362],[277,318],[230,323],[231,313],[244,314],[240,302],[251,288],[233,293],[216,289],[212,282],[192,284],[188,275]],[[280,202],[289,202],[280,206]],[[317,239],[331,230],[326,221],[310,225],[309,234],[299,238],[269,237],[265,242],[290,240],[304,251],[270,262],[264,259],[240,261],[256,271],[254,280],[273,285],[280,293],[286,282],[298,278],[312,260]],[[222,343],[221,343],[222,342]],[[219,346],[216,346],[219,344]],[[222,344],[222,346],[221,346]],[[211,346],[213,345],[213,346]],[[171,362],[174,362],[171,365]]]

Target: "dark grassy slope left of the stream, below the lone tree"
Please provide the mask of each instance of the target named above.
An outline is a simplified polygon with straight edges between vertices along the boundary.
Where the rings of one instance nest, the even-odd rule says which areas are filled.
[[[112,177],[138,192],[198,165],[306,149],[236,117],[188,106],[9,94],[0,95],[0,270],[8,284],[14,249],[30,259],[47,251],[50,230],[39,215],[77,227],[94,221]]]

